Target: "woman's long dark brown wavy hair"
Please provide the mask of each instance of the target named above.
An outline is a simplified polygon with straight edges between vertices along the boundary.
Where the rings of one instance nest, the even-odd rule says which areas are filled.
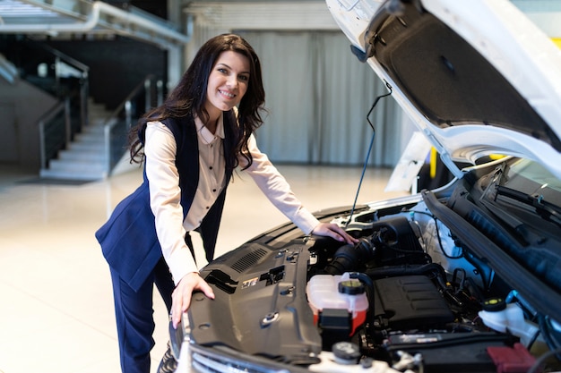
[[[169,93],[163,104],[144,114],[129,131],[131,163],[142,163],[144,159],[142,149],[148,122],[162,121],[169,117],[181,118],[187,115],[196,115],[201,118],[203,123],[208,121],[209,114],[205,110],[204,104],[209,75],[220,54],[225,51],[234,51],[245,55],[250,65],[246,94],[242,97],[238,106],[237,122],[239,127],[233,129],[234,133],[237,133],[237,143],[232,148],[231,154],[225,155],[227,157],[226,164],[229,167],[236,168],[238,154],[246,158],[246,167],[252,164],[253,158],[247,149],[247,140],[263,124],[261,112],[264,111],[265,91],[259,57],[246,39],[234,34],[222,34],[204,43],[203,47],[194,56],[193,62],[183,74],[177,87]]]

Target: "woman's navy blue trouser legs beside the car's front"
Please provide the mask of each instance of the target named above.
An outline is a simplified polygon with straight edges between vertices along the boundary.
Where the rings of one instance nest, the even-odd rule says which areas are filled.
[[[150,373],[150,352],[154,346],[152,334],[155,327],[152,293],[155,284],[169,313],[171,293],[175,285],[168,265],[162,257],[138,292],[134,292],[113,269],[111,269],[111,280],[115,298],[121,370],[123,373]]]

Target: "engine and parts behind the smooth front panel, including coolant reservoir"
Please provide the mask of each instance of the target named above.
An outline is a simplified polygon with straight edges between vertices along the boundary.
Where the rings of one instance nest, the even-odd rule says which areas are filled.
[[[382,360],[410,372],[531,367],[539,332],[523,302],[506,304],[510,289],[445,226],[422,211],[357,220],[357,245],[319,240],[311,250],[306,295],[324,351],[340,362]]]

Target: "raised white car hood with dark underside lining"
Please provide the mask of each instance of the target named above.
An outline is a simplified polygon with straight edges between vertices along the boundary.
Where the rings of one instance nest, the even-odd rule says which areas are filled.
[[[561,177],[561,51],[507,0],[326,0],[454,175],[492,154]]]

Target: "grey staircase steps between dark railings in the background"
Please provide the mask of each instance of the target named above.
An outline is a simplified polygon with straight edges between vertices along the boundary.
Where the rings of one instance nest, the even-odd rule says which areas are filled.
[[[105,154],[104,121],[111,112],[105,106],[88,102],[89,125],[77,133],[74,140],[51,159],[47,169],[40,170],[44,179],[96,181],[108,177]]]

